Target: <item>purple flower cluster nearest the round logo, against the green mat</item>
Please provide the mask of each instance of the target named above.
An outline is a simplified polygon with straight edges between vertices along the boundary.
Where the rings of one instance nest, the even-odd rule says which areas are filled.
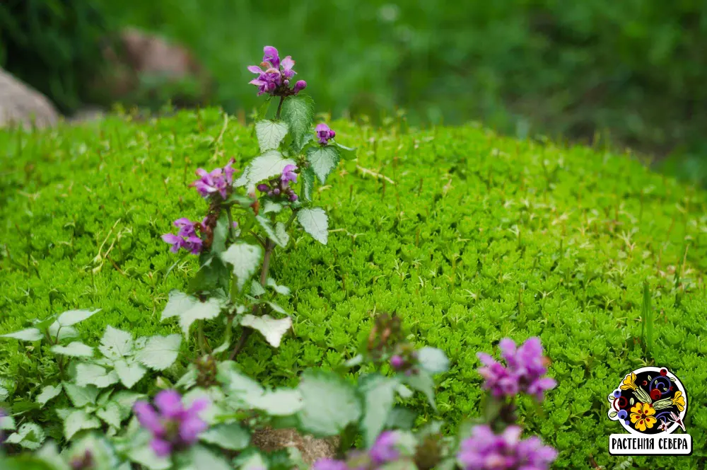
[[[515,396],[523,392],[542,401],[543,392],[556,386],[554,379],[543,377],[547,373],[547,358],[542,355],[539,338],[528,338],[520,348],[510,338],[503,338],[498,347],[506,366],[485,352],[477,352],[484,365],[479,367],[479,374],[486,379],[484,389],[490,390],[493,396]]]

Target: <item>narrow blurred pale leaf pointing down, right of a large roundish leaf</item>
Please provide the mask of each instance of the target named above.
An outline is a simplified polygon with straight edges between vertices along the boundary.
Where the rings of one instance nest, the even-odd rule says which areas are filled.
[[[382,375],[369,375],[361,379],[359,390],[363,395],[363,430],[366,447],[371,447],[383,430],[388,414],[395,403],[395,389],[398,381]]]

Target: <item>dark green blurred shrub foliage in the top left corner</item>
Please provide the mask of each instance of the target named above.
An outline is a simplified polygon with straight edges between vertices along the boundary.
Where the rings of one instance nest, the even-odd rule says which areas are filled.
[[[0,67],[54,101],[64,113],[88,98],[102,65],[107,18],[92,0],[0,3]]]

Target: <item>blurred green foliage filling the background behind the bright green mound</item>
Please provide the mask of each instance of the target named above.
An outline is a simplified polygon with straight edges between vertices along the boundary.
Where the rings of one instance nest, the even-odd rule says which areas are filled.
[[[28,71],[20,68],[21,76],[34,78],[30,84],[66,102],[64,88],[71,90],[83,76],[82,59],[90,57],[105,20],[86,20],[95,12],[85,6],[88,0],[13,2],[2,7],[4,44],[8,9],[29,12],[42,4],[43,11],[63,11],[57,5],[72,5],[71,15],[53,20],[57,26],[25,34],[26,49],[38,60],[23,56]],[[521,138],[595,141],[599,135],[617,147],[684,156],[665,168],[693,179],[707,176],[703,0],[94,4],[116,25],[136,25],[188,45],[218,84],[211,103],[230,112],[256,106],[255,89],[243,87],[251,79],[245,66],[259,62],[269,44],[292,55],[299,78],[334,115],[380,120],[404,108],[413,123],[482,120]],[[74,23],[76,30],[68,28]],[[12,55],[6,51],[5,60]],[[32,76],[31,67],[44,68]]]

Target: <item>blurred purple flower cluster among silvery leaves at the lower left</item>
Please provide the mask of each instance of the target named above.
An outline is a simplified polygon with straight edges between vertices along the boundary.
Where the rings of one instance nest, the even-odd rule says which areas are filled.
[[[133,411],[142,427],[151,432],[150,446],[158,457],[167,457],[189,447],[209,427],[199,418],[199,413],[209,406],[206,399],[194,401],[191,407],[185,408],[177,391],[163,390],[155,396],[155,406],[157,410],[146,401],[138,401]]]

